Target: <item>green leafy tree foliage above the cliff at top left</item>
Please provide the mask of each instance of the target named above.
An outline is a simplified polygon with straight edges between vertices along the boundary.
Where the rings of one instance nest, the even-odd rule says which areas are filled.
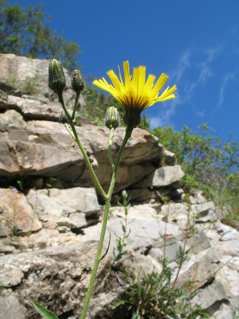
[[[52,32],[50,17],[41,11],[42,5],[11,6],[0,1],[0,53],[14,53],[29,58],[56,58],[68,70],[76,68],[79,46]]]

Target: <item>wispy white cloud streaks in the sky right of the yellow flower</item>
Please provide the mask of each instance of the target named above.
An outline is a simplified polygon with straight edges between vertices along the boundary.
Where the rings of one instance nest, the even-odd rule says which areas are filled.
[[[168,124],[175,126],[173,123],[174,116],[177,113],[178,107],[183,104],[187,104],[187,106],[191,107],[195,116],[210,117],[206,111],[207,106],[205,105],[204,107],[202,103],[200,106],[200,101],[198,100],[199,91],[203,92],[206,85],[210,86],[212,78],[218,83],[221,70],[217,65],[218,63],[222,63],[222,59],[224,58],[222,54],[223,56],[225,56],[225,53],[226,55],[231,54],[235,49],[232,48],[231,52],[228,52],[228,50],[225,52],[224,48],[225,46],[216,45],[215,47],[201,48],[198,50],[188,49],[179,57],[175,70],[170,72],[170,80],[179,88],[175,92],[176,98],[171,100],[170,103],[166,102],[167,104],[163,105],[159,102],[160,105],[158,104],[159,109],[156,111],[156,114],[148,116],[151,121],[151,127],[165,126]],[[218,63],[215,63],[217,61]],[[212,111],[212,114],[223,103],[228,82],[231,79],[235,80],[237,72],[238,70],[228,72],[222,77],[218,103]]]

